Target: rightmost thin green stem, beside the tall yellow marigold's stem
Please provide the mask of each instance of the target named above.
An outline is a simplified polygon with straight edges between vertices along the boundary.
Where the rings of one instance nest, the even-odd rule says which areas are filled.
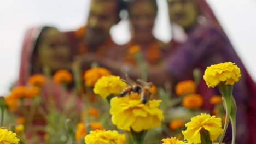
[[[234,97],[231,99],[231,112],[230,112],[230,122],[232,126],[232,144],[236,141],[236,101]]]

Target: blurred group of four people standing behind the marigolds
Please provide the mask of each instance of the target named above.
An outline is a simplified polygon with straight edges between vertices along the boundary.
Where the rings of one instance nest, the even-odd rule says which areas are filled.
[[[91,0],[87,23],[75,31],[60,32],[56,27],[40,26],[27,30],[22,45],[20,73],[17,85],[26,85],[28,77],[42,74],[47,66],[54,74],[59,69],[71,70],[73,62],[83,71],[96,62],[115,75],[124,73],[136,79],[141,69],[129,50],[139,46],[143,61],[148,63],[148,81],[163,86],[193,79],[193,69],[205,71],[207,66],[234,62],[241,69],[241,79],[234,85],[237,101],[237,143],[256,141],[255,83],[205,0],[167,0],[172,39],[164,43],[154,37],[158,5],[156,0]],[[129,15],[131,40],[115,44],[110,28],[121,20],[120,11]],[[121,35],[122,33],[120,33]],[[204,107],[211,109],[209,99],[218,95],[203,79],[198,93]],[[229,134],[231,135],[231,134]],[[230,138],[230,137],[228,137]]]

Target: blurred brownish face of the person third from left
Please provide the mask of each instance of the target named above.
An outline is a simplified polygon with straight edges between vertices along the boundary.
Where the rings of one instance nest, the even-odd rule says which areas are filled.
[[[137,1],[129,11],[133,39],[147,41],[152,38],[156,10],[151,2]]]

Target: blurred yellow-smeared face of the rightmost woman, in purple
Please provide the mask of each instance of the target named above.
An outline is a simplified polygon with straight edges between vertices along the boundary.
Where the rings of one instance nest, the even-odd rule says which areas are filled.
[[[197,10],[194,0],[168,0],[170,20],[184,29],[193,26],[197,20]]]

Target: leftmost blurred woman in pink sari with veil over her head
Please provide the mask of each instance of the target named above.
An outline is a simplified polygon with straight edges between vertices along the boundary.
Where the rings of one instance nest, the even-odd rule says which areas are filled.
[[[70,69],[72,57],[70,55],[70,47],[66,35],[61,33],[57,28],[50,26],[32,27],[27,29],[21,49],[21,61],[18,81],[15,86],[30,86],[30,76],[34,74],[44,75],[43,69],[47,67],[52,71],[50,76],[55,71],[60,69]],[[68,91],[63,91],[60,85],[53,82],[51,77],[45,76],[45,83],[41,88],[40,105],[45,112],[50,110],[50,103],[53,103],[57,110],[62,111],[65,107],[63,100],[65,94],[65,101],[71,98]],[[54,97],[52,97],[54,95]],[[51,99],[53,98],[53,99]],[[72,97],[72,99],[75,97]],[[52,100],[52,101],[51,101]],[[70,99],[69,99],[70,100]],[[77,105],[76,110],[80,111],[82,103],[80,100],[75,99]],[[31,106],[30,100],[25,101],[27,109]],[[20,109],[16,114],[21,115]],[[45,125],[46,120],[37,112],[34,116],[33,125]],[[28,140],[31,138],[33,128],[26,130]],[[43,140],[44,132],[38,131],[40,138]]]

